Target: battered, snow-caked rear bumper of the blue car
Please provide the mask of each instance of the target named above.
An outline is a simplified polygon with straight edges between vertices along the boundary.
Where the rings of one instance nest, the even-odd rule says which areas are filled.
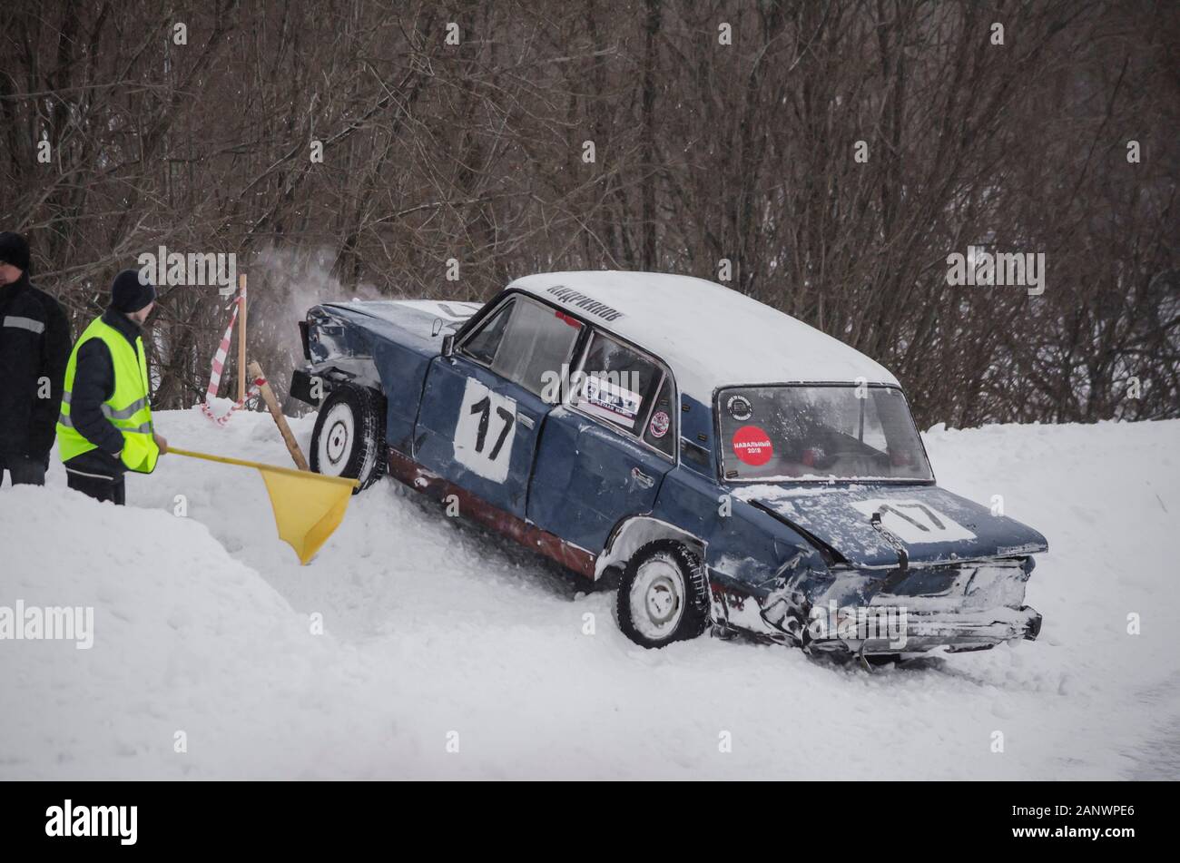
[[[1041,613],[1029,606],[994,608],[988,612],[946,614],[906,612],[889,622],[861,626],[852,621],[845,632],[804,637],[804,646],[817,652],[920,653],[935,647],[950,652],[981,651],[1002,641],[1032,641],[1041,633]]]

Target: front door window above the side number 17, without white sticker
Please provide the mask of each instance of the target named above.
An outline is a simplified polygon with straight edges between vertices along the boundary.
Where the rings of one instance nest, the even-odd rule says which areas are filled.
[[[497,375],[540,395],[546,377],[559,375],[570,362],[581,330],[581,323],[562,312],[517,297],[464,342],[463,351]]]

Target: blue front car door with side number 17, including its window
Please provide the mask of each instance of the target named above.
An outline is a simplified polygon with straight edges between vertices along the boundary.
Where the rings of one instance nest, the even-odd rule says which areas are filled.
[[[546,381],[568,365],[582,324],[509,295],[451,356],[431,362],[414,428],[414,460],[517,518],[545,414]]]

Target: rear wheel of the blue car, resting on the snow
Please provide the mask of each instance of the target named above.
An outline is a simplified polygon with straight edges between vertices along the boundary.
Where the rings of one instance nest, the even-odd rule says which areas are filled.
[[[706,581],[701,559],[686,545],[675,540],[649,542],[627,561],[618,581],[618,627],[635,644],[648,648],[696,638],[709,622]]]

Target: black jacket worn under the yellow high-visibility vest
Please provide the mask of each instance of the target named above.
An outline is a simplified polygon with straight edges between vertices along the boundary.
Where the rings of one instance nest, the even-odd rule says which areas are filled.
[[[103,322],[126,337],[132,348],[139,337],[139,324],[113,309],[103,312]],[[111,350],[100,338],[91,338],[78,349],[73,389],[70,393],[70,419],[74,430],[98,447],[66,462],[66,468],[81,473],[117,476],[126,468],[114,457],[123,449],[123,433],[103,416],[103,403],[114,395],[114,363]]]

